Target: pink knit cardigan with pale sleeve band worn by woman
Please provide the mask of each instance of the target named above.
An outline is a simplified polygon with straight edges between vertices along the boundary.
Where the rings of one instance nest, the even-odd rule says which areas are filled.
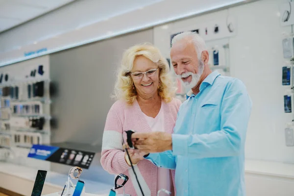
[[[172,133],[175,125],[177,112],[181,105],[179,99],[173,98],[171,102],[163,102],[164,109],[164,125],[165,131]],[[124,101],[116,101],[109,110],[107,115],[105,128],[103,132],[101,165],[104,170],[111,174],[123,173],[129,177],[129,180],[124,185],[125,194],[131,196],[141,196],[139,185],[136,181],[132,168],[127,165],[124,160],[124,151],[122,148],[123,131],[133,129],[137,132],[151,132],[151,129],[141,112],[141,108],[137,102],[128,106]],[[125,140],[125,133],[123,134]],[[125,140],[126,141],[126,140]],[[157,167],[148,160],[140,161],[134,166],[140,185],[145,196],[157,195]],[[174,170],[172,172],[173,187]],[[169,180],[169,179],[167,179]],[[175,190],[174,190],[175,191]],[[118,190],[118,193],[123,193],[123,188]]]

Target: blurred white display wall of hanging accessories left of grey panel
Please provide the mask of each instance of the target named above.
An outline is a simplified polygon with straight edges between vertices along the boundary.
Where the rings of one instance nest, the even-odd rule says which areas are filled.
[[[49,169],[27,158],[34,144],[50,143],[49,56],[0,68],[0,155],[3,161]]]

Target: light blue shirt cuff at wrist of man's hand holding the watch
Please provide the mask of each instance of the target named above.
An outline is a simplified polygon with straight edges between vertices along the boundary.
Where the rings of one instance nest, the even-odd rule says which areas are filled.
[[[189,135],[172,134],[172,154],[187,155],[188,139]]]

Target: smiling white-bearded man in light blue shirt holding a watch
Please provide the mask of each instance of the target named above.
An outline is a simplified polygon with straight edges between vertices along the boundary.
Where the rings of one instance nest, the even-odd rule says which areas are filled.
[[[204,40],[193,32],[173,38],[171,59],[191,88],[189,98],[173,134],[134,133],[135,147],[156,166],[175,169],[179,196],[245,196],[244,146],[252,106],[245,85],[210,70]]]

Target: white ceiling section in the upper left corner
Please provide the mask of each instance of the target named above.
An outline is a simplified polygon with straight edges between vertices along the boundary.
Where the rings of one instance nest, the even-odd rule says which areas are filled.
[[[0,0],[0,32],[74,0]]]

